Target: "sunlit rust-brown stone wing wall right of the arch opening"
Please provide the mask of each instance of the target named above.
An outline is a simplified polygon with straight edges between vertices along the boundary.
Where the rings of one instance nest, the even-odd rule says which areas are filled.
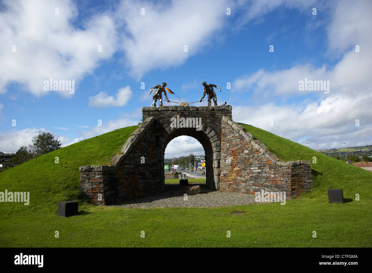
[[[221,191],[254,194],[285,191],[300,195],[312,188],[310,161],[278,162],[278,156],[246,129],[223,117],[221,120]]]

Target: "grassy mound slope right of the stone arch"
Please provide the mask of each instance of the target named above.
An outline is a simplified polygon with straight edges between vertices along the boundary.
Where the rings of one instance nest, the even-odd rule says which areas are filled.
[[[279,156],[280,161],[310,160],[313,188],[302,196],[327,200],[328,189],[343,189],[344,198],[355,199],[355,194],[372,199],[372,172],[328,157],[283,137],[262,129],[242,124],[248,132],[265,144],[267,150]],[[314,158],[315,157],[315,158]],[[316,163],[314,159],[316,159]]]

